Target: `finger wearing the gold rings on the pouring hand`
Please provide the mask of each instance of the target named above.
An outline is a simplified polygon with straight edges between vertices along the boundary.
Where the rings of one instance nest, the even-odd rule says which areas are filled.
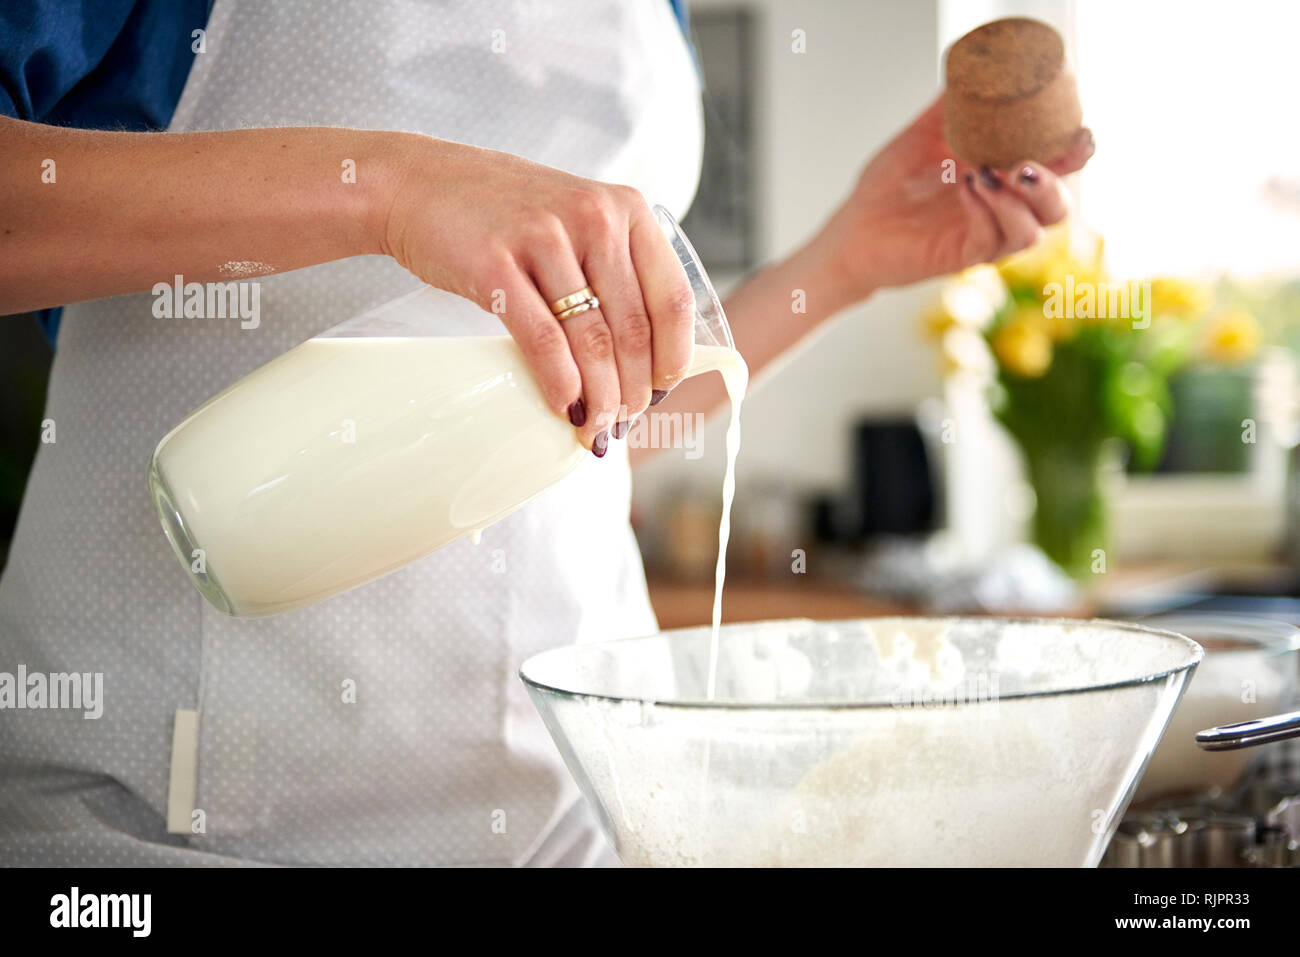
[[[547,303],[547,311],[550,303],[589,285],[559,221],[554,224],[552,233],[532,243],[530,250],[529,270]],[[599,298],[594,286],[593,291]],[[614,332],[601,308],[588,309],[571,319],[552,317],[551,321],[564,333],[582,378],[586,420],[578,426],[578,438],[597,456],[603,456],[608,449],[608,429],[616,420],[620,404]]]

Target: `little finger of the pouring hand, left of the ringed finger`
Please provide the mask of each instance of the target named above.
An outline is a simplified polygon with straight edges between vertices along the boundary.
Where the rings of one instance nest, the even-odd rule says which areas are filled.
[[[542,398],[556,415],[580,425],[586,419],[582,404],[582,376],[550,307],[537,291],[532,277],[517,267],[502,286],[506,311],[502,324],[515,339],[524,360],[541,386]]]

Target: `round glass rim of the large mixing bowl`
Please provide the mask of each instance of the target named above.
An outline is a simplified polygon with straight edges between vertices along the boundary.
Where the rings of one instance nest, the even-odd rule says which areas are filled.
[[[1017,692],[1014,694],[1000,694],[994,703],[1001,703],[1004,701],[1022,701],[1032,698],[1045,698],[1057,697],[1063,694],[1088,694],[1093,692],[1114,690],[1118,688],[1136,688],[1143,684],[1153,684],[1156,681],[1162,681],[1171,677],[1179,672],[1192,672],[1196,666],[1200,664],[1205,655],[1205,650],[1192,641],[1186,635],[1179,635],[1178,632],[1166,631],[1164,628],[1152,628],[1149,625],[1139,624],[1136,622],[1119,622],[1109,618],[1034,618],[1034,616],[1014,616],[1014,615],[874,615],[864,618],[836,618],[836,619],[807,619],[807,618],[781,618],[781,619],[763,619],[759,622],[727,622],[723,628],[732,625],[746,625],[746,624],[780,624],[783,622],[812,622],[815,624],[835,625],[845,622],[898,622],[914,619],[918,622],[979,622],[983,624],[1028,624],[1028,625],[1067,625],[1071,628],[1079,627],[1108,627],[1115,628],[1118,631],[1138,632],[1141,635],[1173,638],[1175,642],[1183,645],[1188,653],[1188,661],[1183,662],[1171,668],[1165,668],[1162,671],[1150,672],[1134,679],[1126,679],[1122,681],[1106,681],[1102,684],[1089,684],[1079,688],[1061,688],[1058,690],[1044,690],[1044,692]],[[624,641],[646,641],[647,638],[660,637],[666,635],[680,635],[682,632],[698,632],[701,629],[710,628],[710,625],[688,625],[685,628],[670,628],[667,631],[654,632],[651,635],[638,635],[627,638],[608,638],[606,641],[593,641],[584,645],[560,645],[559,648],[551,648],[545,651],[538,651],[537,654],[529,655],[523,664],[519,666],[519,679],[529,689],[529,692],[537,690],[546,694],[555,694],[566,698],[573,700],[586,700],[586,701],[606,701],[615,705],[623,705],[625,702],[634,702],[640,705],[654,705],[656,709],[688,709],[688,710],[716,710],[716,711],[872,711],[880,709],[890,710],[910,710],[913,706],[909,705],[896,705],[890,701],[708,701],[701,698],[649,698],[642,696],[624,696],[624,694],[603,694],[598,692],[575,692],[566,688],[556,688],[554,685],[546,684],[545,681],[538,681],[528,676],[528,666],[536,662],[543,655],[550,655],[562,651],[569,651],[576,648],[595,648],[601,645],[616,645]],[[952,705],[945,703],[944,707],[975,707],[982,703],[982,701],[961,701],[953,702]]]

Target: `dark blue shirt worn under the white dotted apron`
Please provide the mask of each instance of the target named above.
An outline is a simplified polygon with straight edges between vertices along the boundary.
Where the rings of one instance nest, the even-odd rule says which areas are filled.
[[[0,113],[86,130],[165,130],[212,3],[4,0]],[[668,3],[685,33],[686,0]],[[51,345],[61,312],[36,313]]]

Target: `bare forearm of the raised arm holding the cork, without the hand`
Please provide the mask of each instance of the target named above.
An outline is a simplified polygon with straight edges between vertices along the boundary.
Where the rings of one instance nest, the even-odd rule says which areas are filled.
[[[749,365],[753,382],[786,358],[835,313],[864,298],[837,269],[835,257],[818,237],[789,257],[759,270],[727,296],[723,308],[736,348]],[[727,399],[722,377],[694,376],[682,381],[650,412],[705,412]],[[633,463],[650,458],[651,449],[633,450]]]

